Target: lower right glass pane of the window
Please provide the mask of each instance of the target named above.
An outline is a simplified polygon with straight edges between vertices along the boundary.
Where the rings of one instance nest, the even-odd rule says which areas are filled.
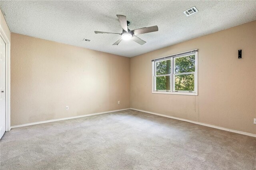
[[[175,75],[175,90],[194,91],[194,74]]]

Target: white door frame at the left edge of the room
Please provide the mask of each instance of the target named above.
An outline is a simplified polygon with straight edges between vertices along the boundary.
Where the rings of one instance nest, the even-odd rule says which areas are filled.
[[[6,53],[5,53],[5,119],[6,119],[6,130],[11,130],[11,110],[10,110],[10,92],[11,92],[11,82],[10,82],[10,70],[11,70],[11,60],[10,60],[10,54],[11,54],[11,41],[8,39],[6,33],[4,32],[4,29],[0,25],[0,37],[4,40],[4,43],[6,44]]]

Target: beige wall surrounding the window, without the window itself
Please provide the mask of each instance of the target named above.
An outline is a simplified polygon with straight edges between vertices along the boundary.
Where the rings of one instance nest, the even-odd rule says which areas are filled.
[[[152,94],[151,59],[192,49],[199,49],[198,96]],[[130,64],[132,108],[256,134],[256,21],[133,57]]]

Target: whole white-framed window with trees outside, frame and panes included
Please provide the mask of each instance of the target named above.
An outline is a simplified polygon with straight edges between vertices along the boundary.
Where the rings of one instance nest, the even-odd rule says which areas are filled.
[[[197,95],[198,50],[152,60],[152,93]]]

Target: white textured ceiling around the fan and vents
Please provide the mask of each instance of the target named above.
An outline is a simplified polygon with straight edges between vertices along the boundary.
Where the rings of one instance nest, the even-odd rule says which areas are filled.
[[[11,32],[97,51],[134,57],[256,20],[256,1],[0,1]],[[183,11],[196,6],[199,12]],[[116,14],[127,16],[129,29],[158,25],[138,35],[147,43],[122,41]],[[84,38],[90,42],[82,41]]]

